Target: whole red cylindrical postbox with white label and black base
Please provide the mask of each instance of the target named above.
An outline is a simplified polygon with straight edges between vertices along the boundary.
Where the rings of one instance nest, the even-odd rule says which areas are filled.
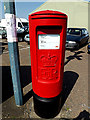
[[[59,113],[67,15],[45,10],[29,15],[34,110],[43,118]]]

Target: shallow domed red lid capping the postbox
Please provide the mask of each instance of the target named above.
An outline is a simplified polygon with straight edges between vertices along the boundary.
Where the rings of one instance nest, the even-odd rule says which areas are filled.
[[[38,12],[32,13],[31,17],[32,18],[41,18],[41,17],[67,18],[67,15],[59,11],[44,10],[44,11],[38,11]]]

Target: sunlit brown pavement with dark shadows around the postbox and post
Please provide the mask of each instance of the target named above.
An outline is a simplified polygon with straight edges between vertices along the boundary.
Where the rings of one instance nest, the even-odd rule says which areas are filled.
[[[4,119],[41,119],[34,112],[30,47],[19,42],[20,76],[24,105],[15,104],[7,41],[0,41],[0,66],[2,67],[2,118]],[[76,51],[65,51],[62,108],[53,118],[59,120],[90,120],[88,97],[88,59],[87,45]],[[50,119],[51,120],[51,119]]]

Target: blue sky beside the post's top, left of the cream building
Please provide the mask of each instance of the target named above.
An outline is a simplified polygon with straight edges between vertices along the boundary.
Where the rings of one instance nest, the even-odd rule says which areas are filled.
[[[23,1],[23,0],[21,0],[21,1]],[[26,0],[26,1],[31,1],[31,2],[15,2],[16,16],[19,17],[19,18],[28,19],[28,15],[32,11],[34,11],[36,8],[41,6],[47,0]],[[85,1],[90,1],[90,0],[85,0]],[[4,3],[2,2],[0,6],[1,6],[0,11],[2,11],[2,14],[1,14],[1,17],[0,17],[0,19],[1,19],[1,18],[4,18]]]

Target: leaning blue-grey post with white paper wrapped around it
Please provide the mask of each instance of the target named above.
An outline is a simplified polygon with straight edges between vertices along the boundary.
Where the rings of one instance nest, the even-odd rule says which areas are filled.
[[[20,106],[23,105],[23,95],[20,83],[20,71],[19,71],[20,65],[19,65],[18,41],[16,34],[16,16],[14,0],[7,0],[6,2],[4,2],[4,11],[7,24],[8,50],[15,102],[17,106]]]

